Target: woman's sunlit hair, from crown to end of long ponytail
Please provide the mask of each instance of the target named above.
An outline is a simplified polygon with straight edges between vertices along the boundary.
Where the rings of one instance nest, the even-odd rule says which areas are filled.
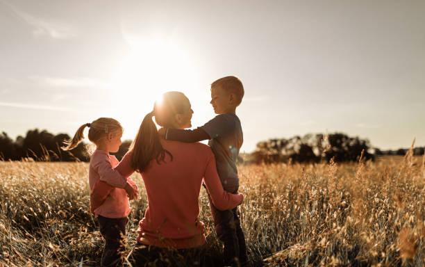
[[[175,115],[184,113],[189,105],[189,99],[183,92],[165,92],[161,99],[155,102],[153,111],[144,116],[138,134],[129,149],[132,153],[133,170],[137,172],[147,170],[152,159],[156,159],[158,164],[165,163],[165,154],[173,160],[172,154],[160,143],[160,136],[152,117],[155,116],[156,123],[161,127],[172,127]]]

